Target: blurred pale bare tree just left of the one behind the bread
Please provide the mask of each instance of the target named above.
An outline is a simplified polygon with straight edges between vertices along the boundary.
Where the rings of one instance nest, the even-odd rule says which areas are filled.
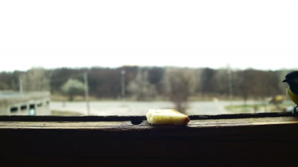
[[[151,100],[157,94],[155,86],[149,83],[148,71],[142,72],[141,70],[138,71],[136,78],[128,84],[127,90],[138,101]]]

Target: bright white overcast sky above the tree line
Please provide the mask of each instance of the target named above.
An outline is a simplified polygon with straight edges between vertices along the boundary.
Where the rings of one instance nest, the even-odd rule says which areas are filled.
[[[297,68],[297,0],[1,0],[0,71]]]

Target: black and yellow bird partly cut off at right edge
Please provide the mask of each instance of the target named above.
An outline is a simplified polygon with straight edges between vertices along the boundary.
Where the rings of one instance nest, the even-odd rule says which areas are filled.
[[[289,87],[287,88],[287,94],[289,98],[296,104],[296,107],[293,108],[292,113],[294,116],[298,116],[298,71],[292,71],[288,73],[282,82],[288,83]]]

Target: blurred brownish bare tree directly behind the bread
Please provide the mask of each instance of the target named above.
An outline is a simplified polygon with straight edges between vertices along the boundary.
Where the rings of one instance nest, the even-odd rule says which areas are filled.
[[[176,109],[185,112],[188,98],[197,88],[194,70],[189,68],[166,68],[163,84],[165,94],[174,102]]]

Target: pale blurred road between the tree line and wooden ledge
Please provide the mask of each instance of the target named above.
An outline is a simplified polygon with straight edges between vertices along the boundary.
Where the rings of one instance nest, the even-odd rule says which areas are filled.
[[[228,114],[229,111],[224,106],[230,105],[227,101],[216,102],[190,102],[186,114]],[[243,104],[242,101],[233,102],[232,104]],[[51,110],[73,111],[87,115],[87,107],[85,102],[66,102],[63,106],[62,102],[51,102]],[[172,102],[90,102],[90,115],[145,115],[148,109],[167,109],[174,108]]]

